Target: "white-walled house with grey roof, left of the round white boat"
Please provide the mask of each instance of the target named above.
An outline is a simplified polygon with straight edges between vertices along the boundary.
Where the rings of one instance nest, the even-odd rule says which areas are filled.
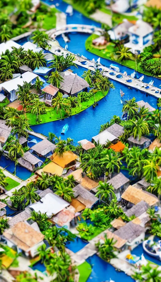
[[[126,245],[129,250],[133,250],[145,239],[146,229],[133,222],[128,222],[120,227],[113,234],[127,240]]]

